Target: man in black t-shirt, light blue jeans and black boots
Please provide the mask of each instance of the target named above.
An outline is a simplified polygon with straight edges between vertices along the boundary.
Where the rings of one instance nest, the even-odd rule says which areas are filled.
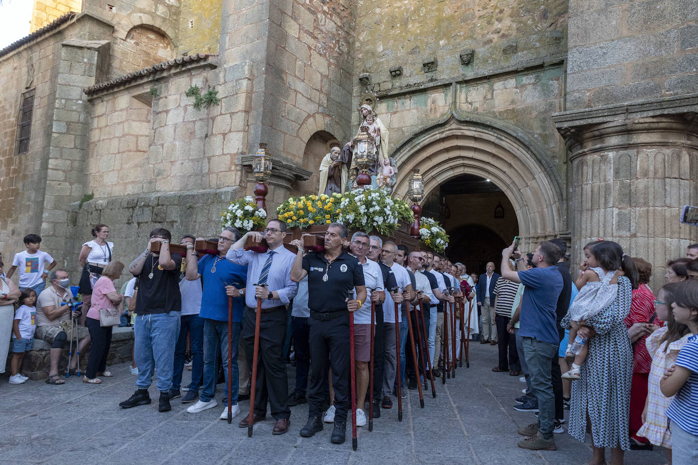
[[[134,356],[138,365],[138,388],[128,400],[119,406],[130,409],[150,404],[148,388],[154,370],[158,376],[160,402],[158,411],[170,411],[170,389],[174,367],[174,346],[179,335],[181,294],[179,294],[179,270],[182,257],[170,254],[172,234],[163,228],[151,231],[146,250],[131,262],[128,270],[139,279],[133,331],[135,333]],[[159,242],[159,254],[150,251]],[[153,364],[153,362],[155,362]]]

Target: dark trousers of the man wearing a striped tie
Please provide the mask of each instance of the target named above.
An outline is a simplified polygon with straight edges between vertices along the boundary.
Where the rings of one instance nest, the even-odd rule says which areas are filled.
[[[252,365],[255,344],[256,312],[245,308],[242,321],[247,363]],[[288,316],[283,307],[260,317],[260,347],[257,358],[257,380],[255,384],[255,415],[267,414],[267,400],[274,420],[289,418],[288,377],[283,354]],[[252,368],[250,367],[250,371]]]

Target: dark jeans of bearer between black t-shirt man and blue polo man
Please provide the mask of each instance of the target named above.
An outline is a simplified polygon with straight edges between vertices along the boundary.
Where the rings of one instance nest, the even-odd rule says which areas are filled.
[[[174,348],[172,390],[181,386],[181,372],[184,370],[186,335],[191,334],[191,383],[189,390],[199,392],[204,373],[204,319],[195,315],[182,315],[177,346]]]

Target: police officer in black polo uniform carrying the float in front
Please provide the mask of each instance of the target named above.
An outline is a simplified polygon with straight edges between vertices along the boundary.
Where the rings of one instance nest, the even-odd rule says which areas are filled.
[[[322,380],[327,379],[328,365],[331,365],[336,413],[330,441],[335,444],[344,442],[350,406],[349,312],[358,310],[366,299],[364,270],[359,260],[342,248],[347,236],[343,224],[329,224],[325,233],[325,251],[309,252],[305,257],[302,240],[292,241],[298,247],[298,254],[290,273],[295,282],[308,276],[311,317],[309,345],[313,363],[308,393],[309,413],[308,422],[300,434],[310,437],[322,430],[322,400],[325,399]],[[356,300],[350,300],[352,289],[356,289]]]

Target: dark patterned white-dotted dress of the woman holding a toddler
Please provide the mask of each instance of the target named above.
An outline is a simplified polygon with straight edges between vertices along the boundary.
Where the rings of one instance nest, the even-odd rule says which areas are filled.
[[[623,319],[630,312],[631,293],[628,277],[618,277],[616,299],[586,320],[596,335],[587,342],[589,353],[581,365],[581,379],[572,383],[569,433],[584,442],[588,414],[593,445],[598,448],[630,449],[632,346]],[[570,328],[570,320],[568,313],[560,324]]]

